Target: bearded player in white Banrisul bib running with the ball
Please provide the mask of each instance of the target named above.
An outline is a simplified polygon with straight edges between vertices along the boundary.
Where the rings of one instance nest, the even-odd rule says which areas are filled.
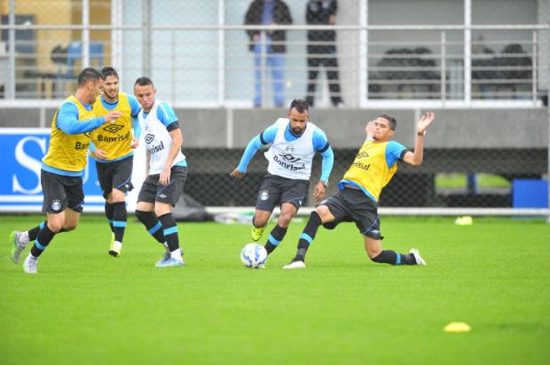
[[[263,229],[270,220],[273,208],[280,206],[277,225],[265,243],[265,250],[273,252],[287,234],[288,224],[302,206],[311,175],[311,164],[316,151],[323,156],[320,181],[315,185],[313,197],[325,197],[326,184],[334,164],[333,150],[325,132],[310,121],[308,102],[295,99],[290,104],[287,118],[279,118],[262,133],[255,136],[244,151],[240,164],[232,176],[243,178],[248,163],[255,152],[265,144],[271,148],[265,152],[269,161],[267,175],[258,191],[255,216],[252,221],[252,239],[263,236]]]

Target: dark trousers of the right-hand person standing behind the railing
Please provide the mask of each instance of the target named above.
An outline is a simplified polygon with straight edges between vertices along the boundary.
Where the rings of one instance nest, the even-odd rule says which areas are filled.
[[[340,96],[340,78],[338,75],[338,58],[336,54],[308,54],[308,93],[306,100],[310,105],[313,105],[315,97],[315,89],[317,82],[318,69],[320,66],[326,67],[326,78],[328,79],[328,89],[330,90],[330,98],[333,105],[342,103]]]

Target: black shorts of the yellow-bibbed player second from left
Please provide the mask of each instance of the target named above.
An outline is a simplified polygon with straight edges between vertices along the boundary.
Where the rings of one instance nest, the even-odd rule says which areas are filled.
[[[134,189],[132,185],[132,167],[134,166],[134,156],[128,156],[126,159],[119,159],[114,162],[96,161],[98,170],[98,180],[103,198],[107,198],[113,189],[128,192]]]

